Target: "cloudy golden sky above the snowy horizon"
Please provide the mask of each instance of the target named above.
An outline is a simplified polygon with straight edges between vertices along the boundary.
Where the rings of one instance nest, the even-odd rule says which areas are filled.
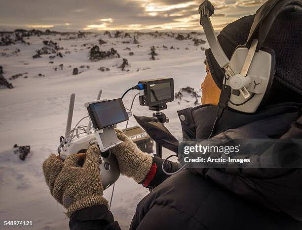
[[[212,0],[212,23],[254,14],[265,0]],[[202,0],[0,0],[0,29],[196,30]]]

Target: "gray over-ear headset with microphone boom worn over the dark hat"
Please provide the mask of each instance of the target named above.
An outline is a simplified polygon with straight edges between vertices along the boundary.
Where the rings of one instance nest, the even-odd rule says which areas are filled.
[[[225,70],[219,107],[244,113],[257,111],[270,90],[275,72],[275,53],[263,47],[263,43],[278,15],[297,10],[302,10],[302,0],[268,0],[256,12],[246,44],[236,47],[229,60],[210,21],[214,6],[208,0],[200,4],[200,24],[214,58]],[[223,109],[218,113],[219,117]]]

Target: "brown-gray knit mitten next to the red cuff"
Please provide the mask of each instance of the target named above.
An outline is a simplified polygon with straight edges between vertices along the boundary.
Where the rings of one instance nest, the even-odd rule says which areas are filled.
[[[111,148],[116,156],[120,173],[132,177],[137,183],[142,182],[149,173],[152,157],[143,153],[122,131],[115,129],[117,138],[123,143]]]

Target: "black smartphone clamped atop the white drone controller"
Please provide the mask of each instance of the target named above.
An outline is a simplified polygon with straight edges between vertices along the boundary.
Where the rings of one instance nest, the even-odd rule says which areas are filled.
[[[93,123],[95,123],[99,129],[129,119],[124,104],[120,98],[93,103],[89,107],[92,113],[92,119],[95,121]]]

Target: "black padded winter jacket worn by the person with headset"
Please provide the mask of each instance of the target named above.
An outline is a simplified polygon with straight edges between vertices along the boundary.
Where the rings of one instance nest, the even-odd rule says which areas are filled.
[[[254,115],[226,110],[215,135],[302,138],[300,108],[279,104]],[[184,140],[207,138],[216,110],[203,105],[179,111]],[[161,159],[154,157],[153,162],[161,169]],[[166,165],[168,172],[178,168],[175,163]],[[301,178],[302,169],[185,169],[170,177],[158,170],[150,184],[156,188],[137,205],[130,229],[302,230]],[[118,230],[119,226],[107,207],[98,205],[76,211],[70,228]]]

